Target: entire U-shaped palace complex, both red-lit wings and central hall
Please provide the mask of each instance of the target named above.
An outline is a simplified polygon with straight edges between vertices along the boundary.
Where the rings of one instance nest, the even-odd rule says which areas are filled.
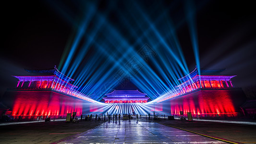
[[[147,94],[138,90],[114,90],[105,94],[104,103],[95,101],[78,91],[73,79],[57,68],[26,70],[28,75],[18,79],[16,88],[8,89],[3,101],[10,114],[24,116],[66,116],[67,113],[132,113],[178,115],[238,115],[245,102],[244,92],[234,87],[236,75],[223,75],[224,70],[198,70],[179,79],[172,91],[148,101]]]

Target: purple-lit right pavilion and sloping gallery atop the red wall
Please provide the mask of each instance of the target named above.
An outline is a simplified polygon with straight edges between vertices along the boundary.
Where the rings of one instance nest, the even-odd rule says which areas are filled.
[[[157,102],[188,94],[197,89],[232,89],[231,78],[236,75],[222,75],[221,72],[223,71],[225,70],[200,70],[200,72],[198,72],[195,67],[194,71],[179,79],[181,82],[180,85],[175,86],[175,89],[165,96],[158,98]]]

